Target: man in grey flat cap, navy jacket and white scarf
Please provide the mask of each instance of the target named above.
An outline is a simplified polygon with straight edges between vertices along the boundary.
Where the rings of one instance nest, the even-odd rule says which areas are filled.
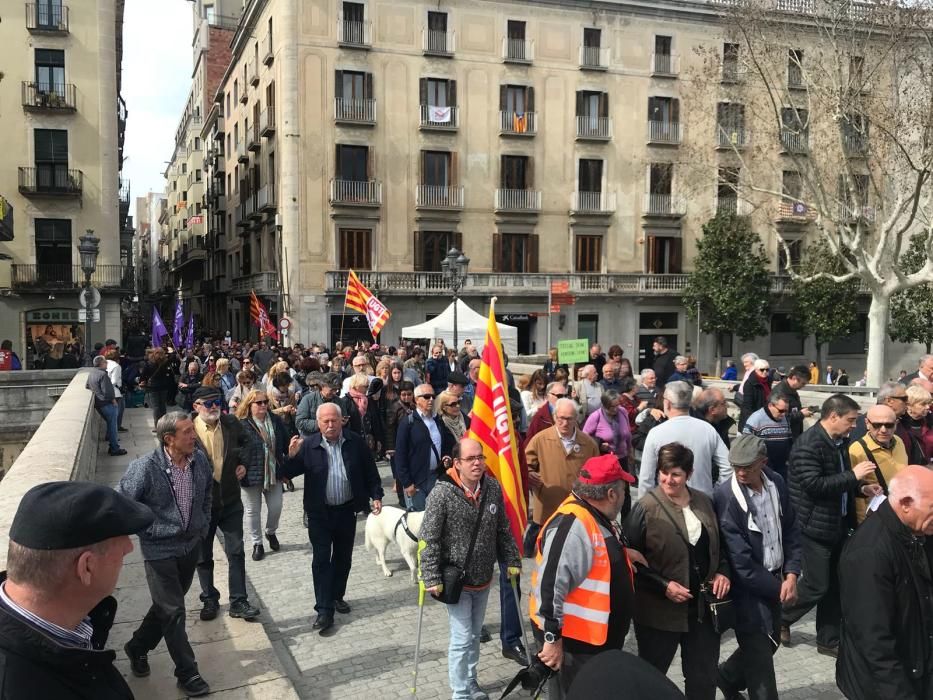
[[[797,598],[800,533],[784,479],[766,466],[757,435],[732,441],[732,478],[714,492],[721,541],[732,568],[739,648],[719,666],[726,700],[777,700],[772,655],[779,646],[781,606]]]

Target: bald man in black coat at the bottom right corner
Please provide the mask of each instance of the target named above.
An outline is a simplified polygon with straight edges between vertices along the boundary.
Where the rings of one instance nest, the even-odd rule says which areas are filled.
[[[933,697],[933,472],[912,466],[839,560],[836,684],[850,700]]]

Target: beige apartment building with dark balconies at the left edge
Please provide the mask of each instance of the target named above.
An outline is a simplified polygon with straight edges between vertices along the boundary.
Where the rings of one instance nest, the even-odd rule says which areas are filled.
[[[31,363],[120,339],[132,290],[129,184],[120,177],[123,0],[8,3],[0,23],[0,328]],[[80,237],[99,239],[99,320],[79,320]],[[93,315],[92,315],[93,318]]]

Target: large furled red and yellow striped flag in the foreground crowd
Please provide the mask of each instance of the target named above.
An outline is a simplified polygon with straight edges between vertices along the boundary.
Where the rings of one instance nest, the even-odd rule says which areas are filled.
[[[470,412],[469,437],[483,446],[486,466],[502,485],[505,513],[515,544],[522,549],[522,535],[528,522],[528,505],[518,462],[518,442],[509,406],[509,385],[502,360],[502,340],[496,325],[496,299],[489,306],[489,325],[483,346],[476,398]]]

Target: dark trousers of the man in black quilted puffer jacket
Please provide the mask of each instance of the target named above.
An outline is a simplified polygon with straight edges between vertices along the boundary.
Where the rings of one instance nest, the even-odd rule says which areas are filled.
[[[839,626],[842,607],[839,602],[839,555],[845,544],[840,532],[833,544],[817,542],[801,535],[803,576],[797,585],[797,602],[784,608],[784,624],[792,625],[816,606],[816,643],[839,646]]]

